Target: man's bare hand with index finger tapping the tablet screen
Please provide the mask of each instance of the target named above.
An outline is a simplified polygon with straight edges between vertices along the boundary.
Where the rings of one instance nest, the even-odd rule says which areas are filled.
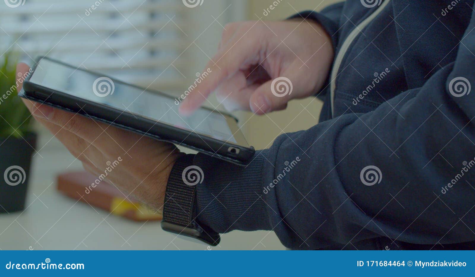
[[[180,112],[191,114],[213,91],[228,110],[283,110],[290,100],[318,92],[332,61],[331,39],[317,23],[299,19],[228,24],[218,53],[205,69],[209,75],[185,97]]]

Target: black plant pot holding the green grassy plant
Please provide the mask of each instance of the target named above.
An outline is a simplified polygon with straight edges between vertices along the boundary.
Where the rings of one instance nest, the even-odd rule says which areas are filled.
[[[0,138],[0,213],[25,209],[36,139],[35,133],[28,133],[23,139]]]

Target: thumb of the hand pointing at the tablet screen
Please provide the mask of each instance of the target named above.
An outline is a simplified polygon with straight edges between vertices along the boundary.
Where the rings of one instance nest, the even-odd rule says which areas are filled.
[[[290,78],[277,77],[257,88],[249,100],[249,106],[256,114],[276,111],[294,98],[293,92],[294,84]]]

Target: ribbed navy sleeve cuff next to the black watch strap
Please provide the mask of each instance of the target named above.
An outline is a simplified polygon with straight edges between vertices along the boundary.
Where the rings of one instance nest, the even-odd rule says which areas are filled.
[[[204,154],[195,156],[193,164],[204,174],[203,183],[196,188],[199,222],[219,233],[270,230],[267,204],[262,198],[263,155],[257,151],[246,167]]]

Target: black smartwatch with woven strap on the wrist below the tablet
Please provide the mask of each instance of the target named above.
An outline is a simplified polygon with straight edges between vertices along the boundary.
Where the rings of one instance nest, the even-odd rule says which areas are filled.
[[[217,246],[219,234],[201,224],[195,214],[196,186],[202,185],[203,171],[193,166],[195,155],[180,157],[168,177],[161,229]],[[191,180],[190,180],[191,179]]]

